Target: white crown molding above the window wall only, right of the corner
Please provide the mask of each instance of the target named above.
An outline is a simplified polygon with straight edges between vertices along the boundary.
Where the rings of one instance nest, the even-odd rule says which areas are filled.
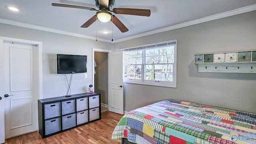
[[[160,33],[160,32],[166,32],[166,31],[169,31],[169,30],[175,30],[175,29],[178,29],[178,28],[184,28],[186,26],[192,26],[192,25],[195,25],[195,24],[200,24],[200,23],[203,23],[203,22],[211,21],[211,20],[226,18],[228,16],[234,16],[234,15],[237,15],[237,14],[242,14],[242,13],[250,12],[250,11],[253,11],[253,10],[256,10],[256,4],[253,4],[253,5],[250,5],[250,6],[245,6],[245,7],[242,7],[242,8],[237,8],[237,9],[230,10],[230,11],[227,11],[227,12],[222,12],[222,13],[219,13],[219,14],[214,14],[212,16],[206,16],[204,18],[199,18],[199,19],[196,19],[196,20],[191,20],[189,22],[183,22],[183,23],[176,24],[176,25],[173,25],[173,26],[168,26],[166,28],[160,28],[158,30],[152,30],[152,31],[149,31],[149,32],[141,33],[141,34],[136,34],[134,36],[128,36],[126,38],[120,38],[118,40],[115,40],[115,43],[126,41],[126,40],[131,40],[131,39],[134,39],[134,38],[140,38],[140,37],[148,36],[148,35],[151,35],[151,34],[157,34],[157,33]]]

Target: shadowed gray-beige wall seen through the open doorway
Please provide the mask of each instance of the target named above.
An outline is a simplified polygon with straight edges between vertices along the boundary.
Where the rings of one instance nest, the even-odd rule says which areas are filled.
[[[108,104],[108,53],[94,52],[95,67],[95,92],[101,94],[101,103]]]

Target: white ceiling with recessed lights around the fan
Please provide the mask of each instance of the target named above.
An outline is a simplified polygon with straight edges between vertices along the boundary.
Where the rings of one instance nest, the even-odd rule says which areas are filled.
[[[96,11],[52,6],[52,3],[71,4],[98,8],[94,0],[0,0],[0,22],[40,30],[96,39],[96,22],[88,28],[80,28]],[[13,12],[6,6],[15,6],[20,11]],[[169,30],[172,26],[193,22],[200,18],[217,19],[256,10],[256,0],[116,0],[114,8],[150,9],[151,16],[114,14],[129,29],[122,33],[112,22],[97,21],[98,40],[114,42],[132,37],[144,36],[159,30]],[[205,18],[203,21],[207,21]],[[198,20],[200,22],[200,20]],[[194,23],[198,23],[194,21]],[[25,23],[25,24],[24,24]],[[193,23],[192,23],[193,24]],[[103,34],[103,30],[110,31]]]

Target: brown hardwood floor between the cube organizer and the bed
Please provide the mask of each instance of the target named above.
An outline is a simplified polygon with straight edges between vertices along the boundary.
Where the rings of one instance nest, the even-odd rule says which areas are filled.
[[[121,144],[121,139],[111,140],[112,132],[123,115],[102,112],[102,119],[48,138],[32,132],[5,140],[4,144]]]

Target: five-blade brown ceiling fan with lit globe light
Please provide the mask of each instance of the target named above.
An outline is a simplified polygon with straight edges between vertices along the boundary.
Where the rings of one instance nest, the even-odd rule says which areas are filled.
[[[98,11],[98,12],[96,12],[96,14],[94,16],[92,16],[92,18],[87,20],[81,26],[81,28],[88,28],[97,19],[99,19],[101,22],[108,22],[111,20],[121,32],[127,32],[128,28],[126,28],[126,26],[124,26],[124,24],[115,15],[113,15],[110,12],[114,12],[115,14],[150,16],[150,10],[147,10],[147,9],[113,8],[115,0],[95,0],[95,2],[96,2],[96,7],[99,8],[99,10],[96,10],[95,8],[85,7],[85,6],[75,6],[75,5],[68,5],[68,4],[52,3],[52,6],[60,6],[60,7],[68,7],[68,8],[81,8],[81,9],[85,9],[85,10]]]

